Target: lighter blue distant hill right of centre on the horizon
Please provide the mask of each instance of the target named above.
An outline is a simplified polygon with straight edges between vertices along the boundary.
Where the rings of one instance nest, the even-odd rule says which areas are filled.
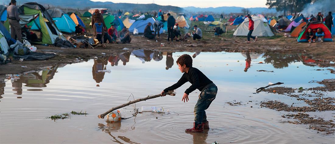
[[[209,8],[199,8],[199,7],[184,7],[184,10],[187,10],[189,12],[214,12],[214,13],[240,13],[241,10],[244,9],[243,7],[228,7],[228,6],[223,6],[223,7],[209,7]],[[264,7],[256,7],[256,8],[248,8],[251,13],[276,13],[276,9],[268,9]]]

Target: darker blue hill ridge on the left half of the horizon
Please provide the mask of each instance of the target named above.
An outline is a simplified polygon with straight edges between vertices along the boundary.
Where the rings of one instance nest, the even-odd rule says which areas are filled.
[[[0,4],[8,5],[10,0],[1,0]],[[136,10],[136,11],[151,11],[159,9],[163,11],[183,12],[184,9],[176,6],[161,6],[157,4],[131,4],[131,3],[113,3],[113,2],[93,2],[90,0],[17,0],[17,5],[22,5],[27,2],[37,2],[42,5],[53,5],[56,7],[74,8],[74,9],[89,9],[89,8],[109,8],[121,10]]]

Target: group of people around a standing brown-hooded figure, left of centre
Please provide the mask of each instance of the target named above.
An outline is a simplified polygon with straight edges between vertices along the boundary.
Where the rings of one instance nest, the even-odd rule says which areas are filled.
[[[111,27],[107,29],[103,15],[99,12],[99,10],[95,10],[91,19],[93,35],[95,39],[97,39],[100,43],[117,43],[117,38],[120,41],[125,43],[130,43],[130,32],[127,27],[123,27],[120,33],[117,31],[117,24],[112,23]]]

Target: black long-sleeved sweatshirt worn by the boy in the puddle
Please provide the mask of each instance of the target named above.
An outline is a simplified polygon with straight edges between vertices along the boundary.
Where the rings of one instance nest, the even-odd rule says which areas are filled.
[[[211,86],[208,84],[213,83],[200,70],[194,67],[190,67],[188,73],[185,72],[183,76],[178,80],[177,83],[175,83],[174,85],[168,88],[165,88],[164,92],[167,92],[169,90],[175,90],[179,88],[180,86],[182,86],[187,81],[189,81],[192,84],[188,89],[185,90],[185,93],[188,95],[195,89],[199,89],[200,91],[202,91],[208,88],[209,86]]]

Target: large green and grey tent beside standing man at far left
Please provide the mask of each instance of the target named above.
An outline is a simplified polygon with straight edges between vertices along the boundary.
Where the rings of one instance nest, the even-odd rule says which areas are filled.
[[[52,22],[52,17],[49,12],[42,5],[29,2],[20,6],[19,10],[24,13],[19,15],[21,26],[30,22],[39,25],[38,30],[41,31],[42,38],[40,38],[40,42],[35,43],[54,44],[56,38],[66,40],[57,26]]]

